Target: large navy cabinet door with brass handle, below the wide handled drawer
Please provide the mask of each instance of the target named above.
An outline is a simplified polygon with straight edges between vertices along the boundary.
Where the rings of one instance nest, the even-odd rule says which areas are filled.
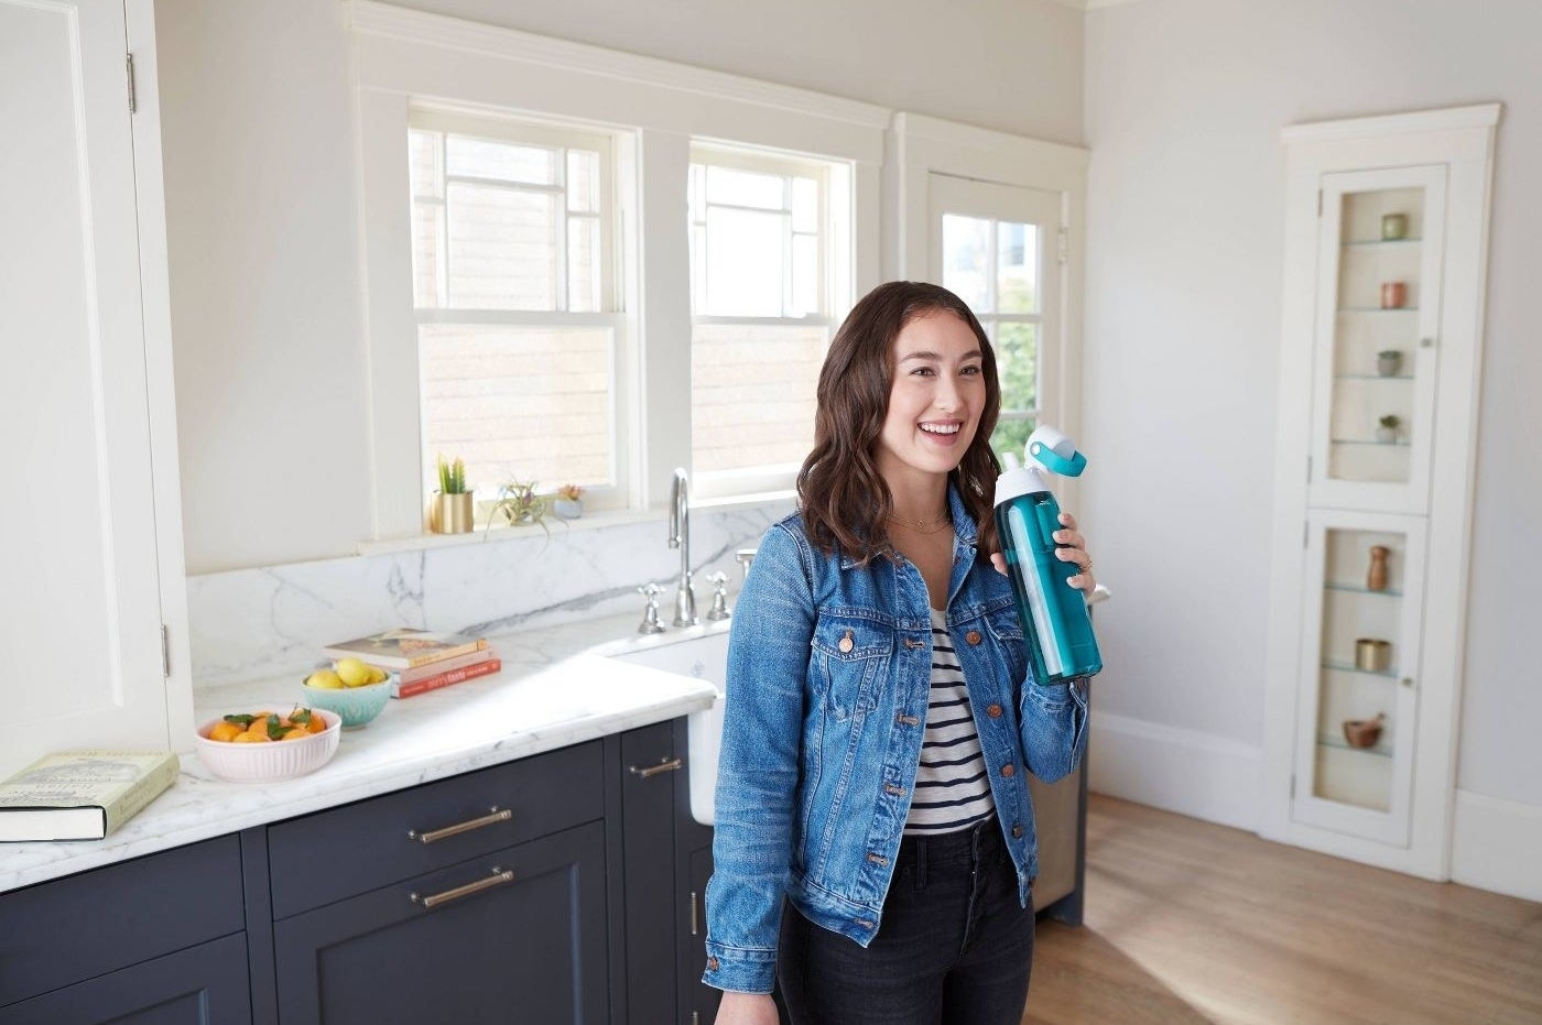
[[[604,826],[285,919],[273,940],[285,1025],[601,1025],[609,1017]]]

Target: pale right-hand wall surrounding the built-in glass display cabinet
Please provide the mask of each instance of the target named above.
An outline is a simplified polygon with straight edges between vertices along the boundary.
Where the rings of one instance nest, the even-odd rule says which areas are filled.
[[[1522,832],[1531,865],[1542,863],[1542,661],[1533,640],[1542,623],[1542,347],[1528,281],[1542,264],[1542,207],[1530,194],[1542,179],[1542,6],[1143,0],[1090,12],[1086,39],[1084,433],[1096,464],[1082,501],[1118,595],[1099,612],[1110,669],[1098,701],[1115,726],[1138,723],[1129,732],[1146,740],[1203,737],[1200,748],[1226,751],[1209,763],[1238,772],[1263,744],[1280,128],[1505,103],[1456,862],[1463,822],[1508,811],[1531,823]],[[1183,797],[1169,786],[1166,802],[1209,800],[1209,817],[1252,825],[1238,803],[1246,792],[1206,780]]]

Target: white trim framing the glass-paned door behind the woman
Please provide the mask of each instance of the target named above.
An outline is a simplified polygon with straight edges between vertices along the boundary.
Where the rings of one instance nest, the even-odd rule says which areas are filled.
[[[928,179],[951,174],[981,182],[1018,185],[1061,196],[1066,262],[1061,268],[1061,327],[1039,344],[1055,371],[1041,381],[1038,410],[1042,419],[1081,436],[1081,325],[1086,279],[1087,160],[1079,146],[1010,136],[971,125],[899,113],[894,116],[899,247],[896,274],[910,281],[931,277],[931,207]],[[1047,387],[1044,387],[1047,385]],[[1075,504],[1075,481],[1066,481],[1066,504]]]

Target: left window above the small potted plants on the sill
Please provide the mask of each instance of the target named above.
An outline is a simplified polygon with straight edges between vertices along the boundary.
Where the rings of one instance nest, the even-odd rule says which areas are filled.
[[[620,504],[612,139],[423,109],[409,125],[426,492],[444,453],[487,498],[518,479]]]

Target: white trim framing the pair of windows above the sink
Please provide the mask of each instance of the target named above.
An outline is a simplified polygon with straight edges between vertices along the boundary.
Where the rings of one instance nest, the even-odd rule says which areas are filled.
[[[854,294],[879,284],[888,109],[372,0],[350,0],[345,14],[359,111],[375,539],[423,532],[412,236],[404,202],[410,105],[588,123],[635,139],[637,213],[621,240],[634,247],[634,257],[621,291],[628,336],[645,347],[646,359],[634,351],[632,365],[621,368],[626,379],[618,387],[635,405],[620,412],[626,419],[617,439],[645,467],[631,481],[632,507],[662,509],[672,469],[689,465],[689,404],[678,399],[691,367],[691,267],[682,203],[692,140],[848,160]],[[623,170],[623,190],[628,177]]]

